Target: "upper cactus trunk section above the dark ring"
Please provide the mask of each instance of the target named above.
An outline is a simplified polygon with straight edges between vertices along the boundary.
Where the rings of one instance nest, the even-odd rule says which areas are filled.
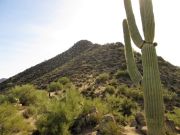
[[[155,22],[152,0],[139,0],[139,4],[145,41],[153,43]]]

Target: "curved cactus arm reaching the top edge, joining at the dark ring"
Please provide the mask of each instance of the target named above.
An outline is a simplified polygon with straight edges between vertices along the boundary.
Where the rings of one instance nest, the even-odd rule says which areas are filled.
[[[127,16],[132,40],[137,47],[141,48],[141,45],[143,44],[143,40],[136,25],[134,13],[132,10],[131,0],[124,0],[124,6],[126,10],[126,16]]]

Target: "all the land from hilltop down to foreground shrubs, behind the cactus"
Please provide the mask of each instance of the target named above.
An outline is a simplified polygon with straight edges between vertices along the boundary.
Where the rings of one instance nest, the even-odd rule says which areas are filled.
[[[142,73],[141,55],[135,53],[135,59]],[[161,57],[158,61],[166,130],[180,133],[180,68]],[[2,82],[0,90],[4,133],[146,134],[143,90],[130,80],[120,42],[99,45],[81,40],[66,52]],[[6,126],[9,123],[14,124]]]

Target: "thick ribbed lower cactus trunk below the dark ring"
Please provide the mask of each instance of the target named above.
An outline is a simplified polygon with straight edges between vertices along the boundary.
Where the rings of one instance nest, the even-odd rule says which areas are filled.
[[[144,107],[148,135],[164,135],[164,103],[156,50],[153,44],[142,48]]]

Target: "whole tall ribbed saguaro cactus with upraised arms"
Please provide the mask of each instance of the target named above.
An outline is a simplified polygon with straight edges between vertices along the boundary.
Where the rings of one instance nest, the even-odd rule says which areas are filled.
[[[123,30],[127,68],[131,80],[135,84],[139,85],[142,80],[148,135],[165,135],[164,103],[155,49],[157,44],[154,43],[153,6],[151,0],[139,0],[139,4],[145,40],[142,39],[137,28],[131,0],[124,0],[127,20],[123,21]],[[130,37],[142,51],[143,77],[134,61]]]

